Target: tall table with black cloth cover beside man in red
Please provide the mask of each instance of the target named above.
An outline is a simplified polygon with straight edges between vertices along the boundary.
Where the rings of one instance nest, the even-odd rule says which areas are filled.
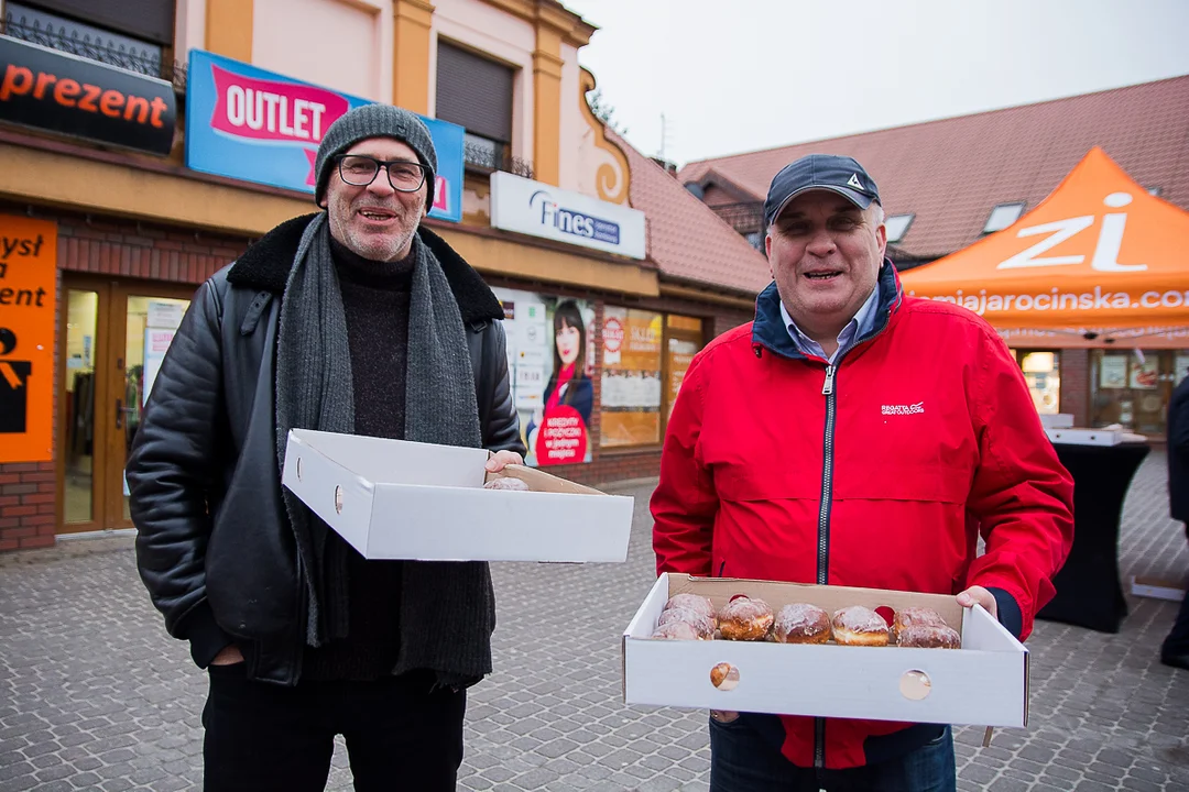
[[[1119,581],[1119,522],[1122,501],[1146,443],[1072,445],[1053,443],[1074,476],[1074,547],[1057,572],[1057,595],[1038,619],[1118,633],[1127,601]]]

